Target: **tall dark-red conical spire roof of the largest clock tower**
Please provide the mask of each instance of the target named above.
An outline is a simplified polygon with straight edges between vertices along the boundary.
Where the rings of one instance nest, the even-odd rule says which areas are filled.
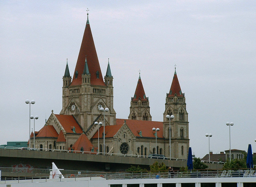
[[[74,76],[70,86],[82,84],[82,74],[84,72],[85,57],[87,60],[89,72],[91,74],[91,85],[106,86],[102,78],[100,63],[98,60],[97,52],[92,38],[92,31],[89,23],[86,24],[84,29],[84,36],[77,58]],[[78,71],[77,78],[76,71]],[[99,78],[97,78],[96,76],[97,71],[99,71]]]

